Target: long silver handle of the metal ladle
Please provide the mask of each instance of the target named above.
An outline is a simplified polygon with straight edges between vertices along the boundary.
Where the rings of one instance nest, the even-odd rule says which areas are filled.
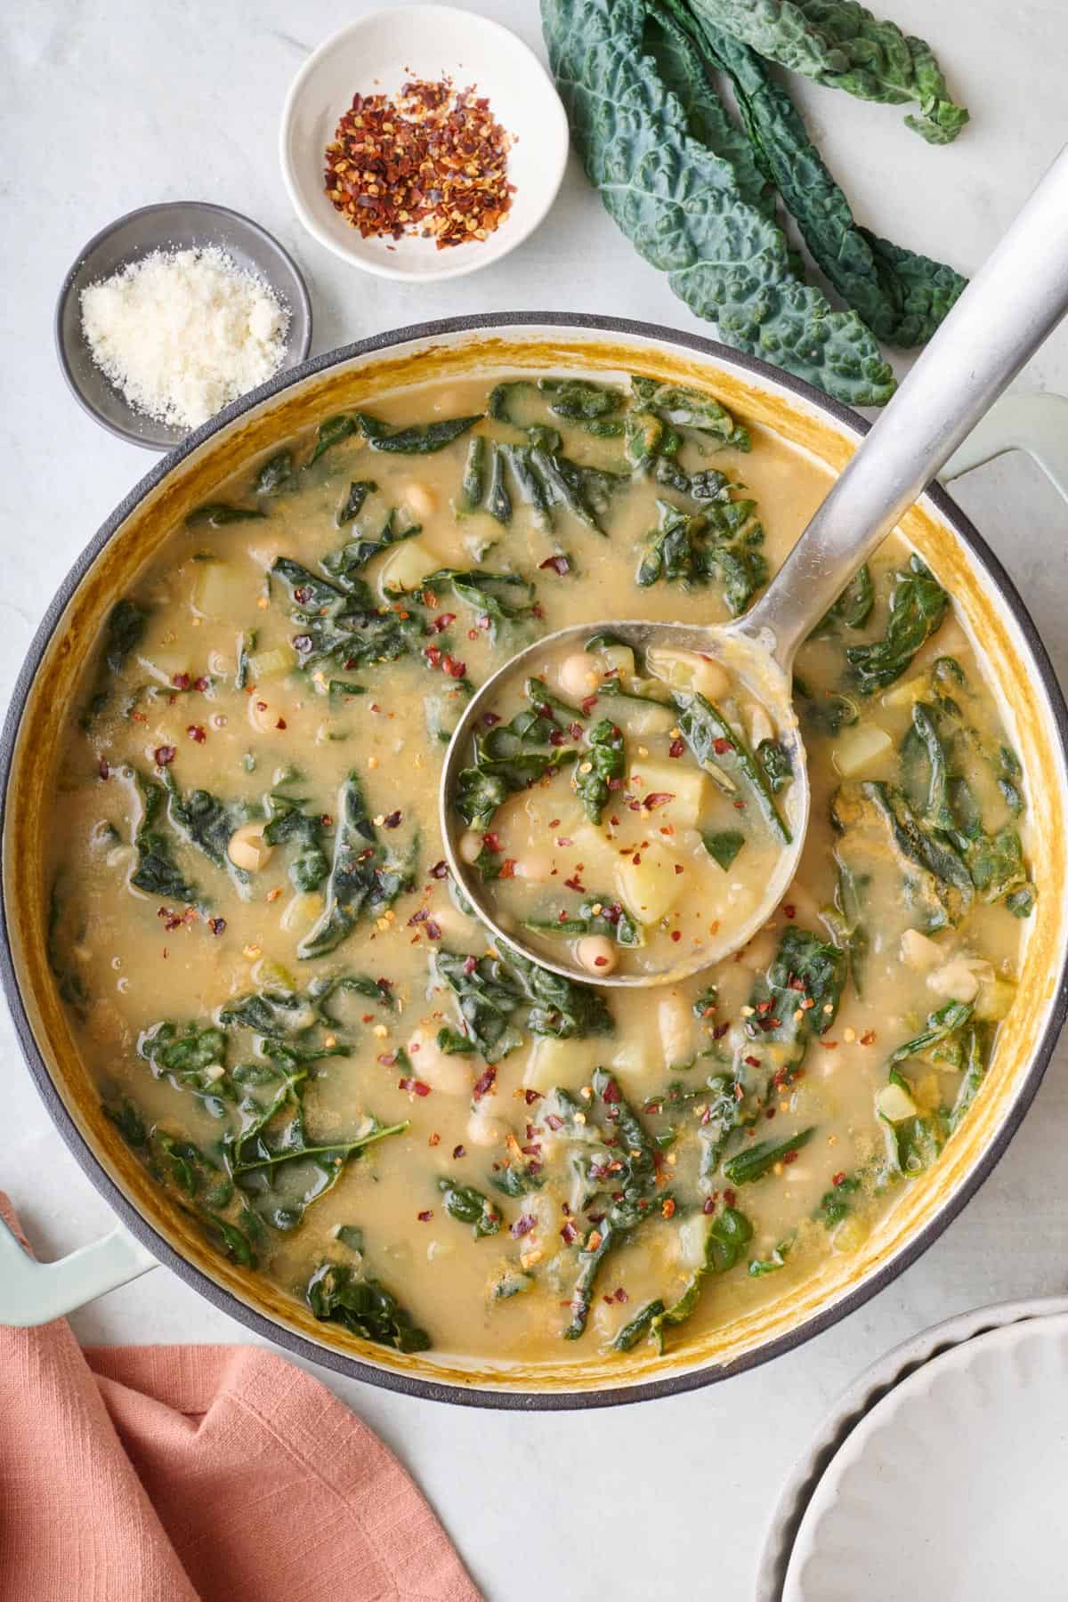
[[[1068,311],[1068,146],[836,479],[745,620],[778,663],[839,598]],[[767,638],[767,636],[765,636]]]

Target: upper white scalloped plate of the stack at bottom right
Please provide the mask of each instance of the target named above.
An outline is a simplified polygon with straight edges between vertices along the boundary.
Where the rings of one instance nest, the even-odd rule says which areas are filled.
[[[783,1602],[1063,1602],[1068,1314],[924,1363],[849,1435]]]

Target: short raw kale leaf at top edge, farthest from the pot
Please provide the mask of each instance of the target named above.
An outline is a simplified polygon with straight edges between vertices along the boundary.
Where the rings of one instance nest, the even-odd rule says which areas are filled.
[[[919,103],[905,122],[950,144],[969,120],[954,106],[930,45],[879,21],[855,0],[690,0],[701,22],[745,40],[817,83],[887,106]]]

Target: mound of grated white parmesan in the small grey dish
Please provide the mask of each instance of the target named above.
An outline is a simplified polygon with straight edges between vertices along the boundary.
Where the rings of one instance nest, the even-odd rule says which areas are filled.
[[[218,245],[154,250],[82,292],[94,364],[135,412],[197,428],[277,373],[290,314]]]

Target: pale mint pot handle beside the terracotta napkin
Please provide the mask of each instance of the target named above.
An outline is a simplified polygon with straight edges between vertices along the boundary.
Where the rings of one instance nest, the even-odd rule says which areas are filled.
[[[0,1219],[0,1325],[27,1330],[61,1318],[155,1266],[123,1224],[56,1262],[37,1262]]]

